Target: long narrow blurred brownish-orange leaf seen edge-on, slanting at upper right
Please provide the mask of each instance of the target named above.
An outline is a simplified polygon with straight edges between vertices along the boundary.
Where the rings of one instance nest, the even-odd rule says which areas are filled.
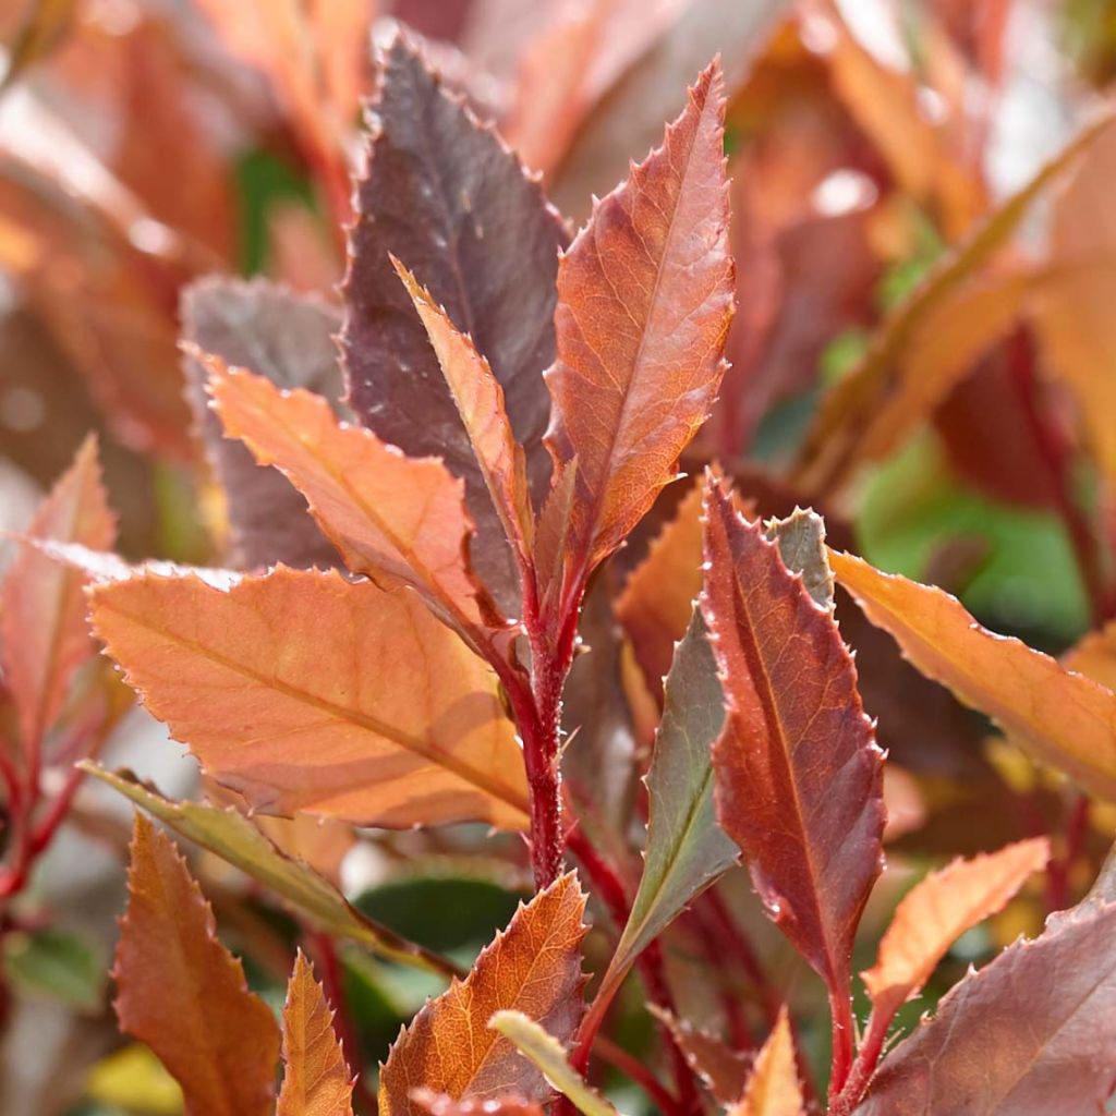
[[[856,367],[822,402],[797,466],[797,482],[807,491],[841,481],[855,459],[864,427],[896,385],[896,369],[912,337],[1014,234],[1031,205],[1112,122],[1101,115],[1083,131],[1022,189],[994,210],[959,248],[946,254],[926,279],[901,302],[876,331]]]

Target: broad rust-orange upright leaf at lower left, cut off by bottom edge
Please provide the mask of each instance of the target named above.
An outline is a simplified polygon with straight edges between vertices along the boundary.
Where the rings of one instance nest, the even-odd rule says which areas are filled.
[[[121,1029],[158,1055],[186,1116],[270,1116],[279,1028],[214,929],[174,843],[137,814],[113,972]]]

